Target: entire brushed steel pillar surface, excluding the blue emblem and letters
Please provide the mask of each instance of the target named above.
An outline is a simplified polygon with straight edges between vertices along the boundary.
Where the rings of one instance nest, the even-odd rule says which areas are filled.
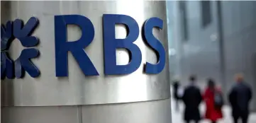
[[[9,7],[3,7],[9,6]],[[3,13],[4,11],[4,13]],[[94,24],[94,40],[85,52],[99,76],[84,76],[72,54],[68,53],[68,77],[55,76],[54,16],[79,14]],[[137,71],[125,76],[104,76],[102,15],[124,14],[137,21],[140,32],[143,23],[152,17],[164,21],[162,30],[153,30],[166,52],[165,69],[156,75],[143,73],[146,61],[155,63],[155,53],[145,45],[140,34],[135,44],[140,47],[143,61]],[[4,123],[169,123],[169,61],[165,1],[1,1],[1,23],[31,16],[39,25],[33,35],[40,44],[35,47],[40,57],[32,59],[40,69],[38,78],[26,73],[24,78],[1,81],[2,122]],[[77,26],[67,27],[67,39],[78,40]],[[126,30],[116,25],[116,37],[126,37]],[[25,49],[13,40],[9,49],[16,59]],[[128,63],[128,52],[116,50],[117,64]]]

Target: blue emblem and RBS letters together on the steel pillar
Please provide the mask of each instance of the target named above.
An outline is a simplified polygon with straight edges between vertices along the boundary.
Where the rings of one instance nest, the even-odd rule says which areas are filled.
[[[24,47],[33,47],[38,44],[37,38],[30,36],[33,29],[35,29],[38,20],[30,18],[26,25],[21,24],[20,21],[14,21],[13,27],[7,23],[3,36],[1,33],[1,75],[9,75],[8,78],[13,78],[11,71],[14,67],[11,59],[6,57],[4,49],[9,47],[9,37],[12,35],[12,28],[14,37],[21,41]],[[82,36],[79,40],[74,42],[67,42],[67,25],[77,25],[82,30]],[[123,24],[128,29],[128,34],[125,39],[116,39],[115,25]],[[157,54],[157,64],[145,64],[146,74],[159,74],[165,67],[165,49],[161,42],[157,40],[152,34],[153,28],[162,29],[163,21],[160,18],[149,18],[143,24],[142,35],[144,42],[155,51]],[[1,31],[3,32],[3,31]],[[104,74],[106,75],[121,75],[130,74],[136,71],[141,64],[142,54],[140,48],[133,44],[137,40],[140,29],[135,19],[126,15],[104,14],[103,15],[103,42],[104,42]],[[5,35],[5,36],[4,36]],[[7,35],[7,36],[6,36]],[[6,38],[8,37],[8,38]],[[89,18],[80,15],[61,15],[55,16],[55,71],[56,76],[68,76],[67,67],[67,52],[72,52],[79,67],[86,76],[99,76],[98,71],[94,67],[84,48],[89,46],[94,40],[94,25]],[[4,45],[3,45],[4,44]],[[116,64],[116,49],[124,48],[130,53],[130,61],[126,65]],[[37,57],[39,51],[37,49],[24,49],[21,52],[21,58],[15,61],[15,76],[17,78],[23,77],[21,70],[30,74],[32,77],[39,76],[40,72],[37,67],[29,60]],[[22,57],[23,56],[23,57]],[[3,67],[4,66],[4,67]],[[7,67],[8,66],[8,67]],[[17,70],[16,69],[21,69]]]

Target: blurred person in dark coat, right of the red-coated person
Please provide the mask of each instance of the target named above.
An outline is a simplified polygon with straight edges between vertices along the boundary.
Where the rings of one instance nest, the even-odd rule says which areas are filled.
[[[241,74],[236,75],[235,79],[237,83],[233,86],[228,95],[228,100],[232,107],[233,119],[235,123],[237,123],[240,118],[243,123],[247,123],[252,90],[250,86],[244,83]]]

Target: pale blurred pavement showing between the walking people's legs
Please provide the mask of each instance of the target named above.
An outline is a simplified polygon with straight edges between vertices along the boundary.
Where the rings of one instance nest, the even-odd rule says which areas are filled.
[[[174,104],[174,100],[172,99],[172,123],[184,123],[183,120],[183,111],[184,105],[182,102],[179,103],[179,112],[175,112],[176,105]],[[201,115],[204,115],[205,105],[201,103],[200,106]],[[230,107],[225,106],[223,107],[223,119],[220,120],[218,123],[233,123],[233,119],[230,116]],[[200,123],[210,123],[206,119],[202,120]],[[248,123],[256,123],[256,113],[250,115]]]

